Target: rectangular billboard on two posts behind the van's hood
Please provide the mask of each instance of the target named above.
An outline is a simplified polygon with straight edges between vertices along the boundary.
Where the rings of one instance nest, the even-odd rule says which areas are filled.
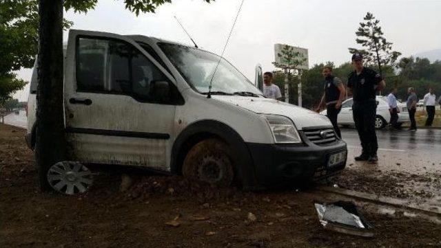
[[[297,71],[299,76],[298,83],[298,106],[302,106],[302,70],[309,69],[308,49],[302,47],[293,47],[285,44],[275,44],[274,54],[276,61],[273,63],[276,67],[285,72],[285,102],[289,102],[289,74]]]

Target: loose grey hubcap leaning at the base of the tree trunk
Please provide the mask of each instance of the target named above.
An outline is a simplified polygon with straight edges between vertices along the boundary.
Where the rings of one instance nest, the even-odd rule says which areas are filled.
[[[83,193],[93,183],[92,172],[78,162],[62,161],[50,167],[48,182],[63,194]]]

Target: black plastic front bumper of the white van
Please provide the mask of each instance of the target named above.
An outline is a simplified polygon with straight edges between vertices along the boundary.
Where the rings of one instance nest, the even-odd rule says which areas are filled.
[[[338,139],[333,144],[256,144],[247,143],[254,162],[255,175],[261,185],[300,183],[323,179],[343,170],[345,161],[328,168],[332,154],[346,151],[347,145]]]

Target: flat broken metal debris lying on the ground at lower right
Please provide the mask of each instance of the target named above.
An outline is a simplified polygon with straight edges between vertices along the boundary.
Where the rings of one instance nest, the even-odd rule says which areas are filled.
[[[373,237],[371,225],[357,211],[356,205],[348,201],[336,203],[314,203],[318,220],[325,229],[342,234]]]

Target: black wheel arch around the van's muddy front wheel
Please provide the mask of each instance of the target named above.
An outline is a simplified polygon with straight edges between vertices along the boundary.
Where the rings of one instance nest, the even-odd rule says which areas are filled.
[[[234,147],[234,174],[245,190],[256,188],[254,164],[249,149],[240,135],[230,126],[214,120],[203,120],[187,126],[176,138],[172,148],[171,171],[182,174],[184,159],[189,150],[205,139],[220,139]]]

